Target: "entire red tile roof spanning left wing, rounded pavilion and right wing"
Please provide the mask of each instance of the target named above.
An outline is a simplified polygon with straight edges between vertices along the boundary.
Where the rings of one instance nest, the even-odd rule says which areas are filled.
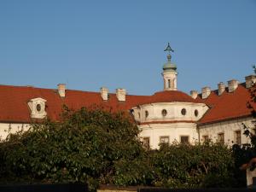
[[[166,90],[154,93],[153,96],[126,96],[125,102],[119,102],[115,94],[109,94],[107,102],[102,101],[99,92],[81,90],[66,90],[65,98],[61,98],[57,90],[26,86],[0,85],[0,122],[30,122],[30,109],[27,102],[41,97],[46,102],[46,112],[50,119],[60,119],[63,104],[74,110],[90,107],[93,104],[112,108],[113,111],[129,110],[137,105],[154,102],[200,102],[206,103],[210,109],[200,120],[201,124],[212,123],[224,119],[232,119],[251,114],[247,108],[250,100],[248,90],[239,85],[233,93],[225,91],[218,96],[216,90],[207,99],[193,99],[182,91]]]

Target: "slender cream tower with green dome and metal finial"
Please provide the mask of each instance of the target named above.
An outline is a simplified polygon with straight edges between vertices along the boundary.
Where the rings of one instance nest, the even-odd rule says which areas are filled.
[[[171,62],[171,51],[174,52],[174,50],[171,48],[169,43],[165,51],[168,51],[169,53],[167,55],[167,62],[163,66],[162,72],[162,76],[164,79],[164,90],[177,90],[177,67],[174,63]]]

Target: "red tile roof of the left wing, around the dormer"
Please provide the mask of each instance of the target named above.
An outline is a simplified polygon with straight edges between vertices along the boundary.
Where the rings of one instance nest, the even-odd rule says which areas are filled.
[[[0,85],[0,122],[31,122],[27,102],[37,97],[47,100],[45,110],[48,117],[53,120],[60,119],[64,104],[74,110],[96,104],[118,111],[128,110],[148,98],[127,95],[126,102],[119,102],[115,94],[109,94],[108,102],[104,102],[98,92],[66,90],[65,98],[61,98],[57,90]]]

